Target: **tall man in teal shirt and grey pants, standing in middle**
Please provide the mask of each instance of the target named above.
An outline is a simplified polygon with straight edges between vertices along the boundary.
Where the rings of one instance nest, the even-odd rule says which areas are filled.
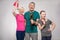
[[[26,20],[26,31],[25,31],[25,40],[38,40],[38,31],[37,31],[37,23],[40,18],[39,13],[34,10],[35,3],[29,3],[29,11],[25,12],[24,17]]]

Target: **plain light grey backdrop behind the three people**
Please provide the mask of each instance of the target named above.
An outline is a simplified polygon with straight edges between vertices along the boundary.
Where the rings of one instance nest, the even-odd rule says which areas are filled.
[[[12,15],[13,3],[15,0],[0,0],[0,40],[16,40],[16,20]],[[29,2],[35,2],[38,12],[46,10],[47,18],[56,23],[52,32],[52,40],[60,40],[60,0],[19,0],[20,6],[28,10]],[[41,40],[41,33],[38,29],[38,39]]]

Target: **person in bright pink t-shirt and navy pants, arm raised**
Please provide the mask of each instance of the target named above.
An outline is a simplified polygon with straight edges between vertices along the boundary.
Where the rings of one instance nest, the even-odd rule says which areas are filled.
[[[19,14],[13,12],[13,15],[15,16],[17,22],[16,38],[17,40],[24,40],[24,36],[25,36],[25,19],[23,15],[24,8],[21,7],[18,10],[19,10]]]

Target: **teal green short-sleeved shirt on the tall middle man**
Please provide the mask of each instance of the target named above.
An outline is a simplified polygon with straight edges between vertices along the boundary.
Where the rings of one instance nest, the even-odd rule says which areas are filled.
[[[31,14],[30,11],[25,12],[25,14],[24,14],[24,17],[26,19],[26,30],[25,30],[25,32],[27,32],[27,33],[37,33],[37,26],[36,25],[31,25],[30,14]],[[39,19],[39,18],[40,18],[39,13],[37,11],[33,11],[33,19],[36,20],[36,19]]]

